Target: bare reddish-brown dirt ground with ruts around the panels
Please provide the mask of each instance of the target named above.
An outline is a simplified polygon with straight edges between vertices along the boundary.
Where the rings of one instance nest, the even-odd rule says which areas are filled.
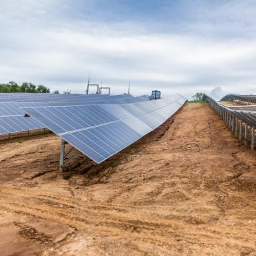
[[[1,141],[0,255],[256,255],[256,151],[207,104],[98,166],[59,144]]]

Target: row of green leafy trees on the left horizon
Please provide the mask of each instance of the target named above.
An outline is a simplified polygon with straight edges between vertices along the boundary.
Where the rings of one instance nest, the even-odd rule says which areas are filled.
[[[35,85],[32,83],[24,82],[22,85],[9,81],[8,84],[0,84],[0,92],[43,92],[50,93],[50,88],[45,87],[43,84]],[[58,93],[58,92],[55,92]]]

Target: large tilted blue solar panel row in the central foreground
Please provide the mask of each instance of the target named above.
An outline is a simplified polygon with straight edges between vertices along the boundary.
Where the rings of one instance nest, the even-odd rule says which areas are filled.
[[[98,164],[162,125],[184,104],[169,99],[135,99],[120,104],[25,107],[22,110]]]

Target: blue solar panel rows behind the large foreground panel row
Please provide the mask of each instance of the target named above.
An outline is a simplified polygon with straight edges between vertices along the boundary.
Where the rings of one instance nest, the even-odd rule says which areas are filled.
[[[0,94],[0,135],[45,128],[35,118],[25,118],[21,107],[66,106],[94,104],[125,104],[149,100],[149,97],[100,94]]]

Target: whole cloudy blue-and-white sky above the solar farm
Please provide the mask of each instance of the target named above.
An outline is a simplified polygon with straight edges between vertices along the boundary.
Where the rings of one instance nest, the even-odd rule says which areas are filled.
[[[0,0],[0,83],[256,94],[255,0]]]

